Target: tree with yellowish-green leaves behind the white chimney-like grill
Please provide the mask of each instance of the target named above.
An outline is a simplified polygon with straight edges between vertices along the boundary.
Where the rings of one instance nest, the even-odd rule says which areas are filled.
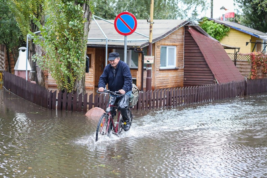
[[[21,30],[24,40],[26,42],[27,34],[30,32],[38,31],[38,27],[34,24],[33,19],[30,18],[34,15],[39,19],[41,23],[44,23],[44,15],[42,13],[42,3],[44,0],[9,0],[9,7],[14,14],[14,17],[18,23],[18,27]],[[42,49],[39,46],[35,46],[32,40],[29,40],[29,62],[31,69],[34,72],[29,74],[29,78],[36,81],[37,84],[44,86],[44,71],[38,67],[38,64],[32,60],[32,56],[35,53],[41,53]]]

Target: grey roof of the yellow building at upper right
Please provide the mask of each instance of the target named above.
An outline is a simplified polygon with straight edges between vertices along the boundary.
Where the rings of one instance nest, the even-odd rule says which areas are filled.
[[[249,33],[253,33],[255,35],[258,35],[260,37],[260,39],[263,39],[265,41],[267,40],[267,34],[264,32],[260,32],[258,30],[253,29],[253,28],[249,28],[247,26],[244,26],[244,25],[241,25],[241,24],[235,23],[235,22],[223,21],[223,20],[218,20],[218,19],[212,19],[212,20],[214,20],[217,23],[222,23],[222,24],[225,24],[227,26],[234,27],[236,29],[240,29],[240,30],[243,30],[243,31],[246,31]]]

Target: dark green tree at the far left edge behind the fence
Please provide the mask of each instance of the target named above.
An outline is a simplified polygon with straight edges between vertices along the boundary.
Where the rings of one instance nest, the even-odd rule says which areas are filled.
[[[0,0],[0,43],[6,46],[8,72],[11,73],[10,52],[16,64],[18,48],[23,42],[22,33],[18,28],[14,15],[11,13],[7,0]]]

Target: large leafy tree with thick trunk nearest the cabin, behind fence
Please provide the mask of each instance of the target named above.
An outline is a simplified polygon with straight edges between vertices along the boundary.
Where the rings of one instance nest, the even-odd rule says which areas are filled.
[[[42,39],[34,35],[44,55],[35,55],[42,69],[48,69],[58,89],[85,93],[86,44],[92,13],[89,1],[45,0],[44,26],[37,18]]]

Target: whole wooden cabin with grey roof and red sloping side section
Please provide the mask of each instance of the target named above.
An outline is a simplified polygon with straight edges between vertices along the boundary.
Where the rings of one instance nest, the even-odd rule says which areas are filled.
[[[90,72],[86,74],[86,87],[93,88],[97,87],[98,79],[108,64],[108,53],[118,52],[124,61],[124,36],[116,32],[112,24],[114,20],[108,20],[111,23],[96,21],[98,25],[91,23],[87,43]],[[146,64],[142,68],[141,51],[147,55],[149,24],[146,20],[138,20],[137,23],[135,32],[138,33],[127,36],[127,58],[124,62],[130,67],[133,82],[139,89],[145,90],[147,73]],[[189,25],[186,20],[154,20],[152,90],[243,80],[222,45],[200,27]]]

